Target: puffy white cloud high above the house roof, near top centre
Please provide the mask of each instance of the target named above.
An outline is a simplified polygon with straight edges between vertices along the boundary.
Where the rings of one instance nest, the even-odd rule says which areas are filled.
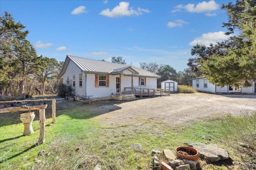
[[[110,10],[107,8],[106,10],[102,10],[100,15],[107,17],[122,17],[122,16],[131,16],[131,15],[142,15],[142,12],[150,12],[148,9],[138,8],[138,10],[134,10],[132,7],[129,8],[129,2],[120,2],[118,6]]]

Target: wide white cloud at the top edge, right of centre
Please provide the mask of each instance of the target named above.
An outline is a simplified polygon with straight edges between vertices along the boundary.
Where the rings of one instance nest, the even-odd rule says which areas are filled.
[[[214,10],[219,9],[219,4],[216,4],[214,0],[210,0],[209,2],[203,1],[199,2],[198,4],[187,4],[187,5],[178,5],[174,7],[174,10],[172,10],[172,13],[174,12],[180,12],[181,9],[185,9],[188,12],[196,12],[196,13],[201,13],[201,12],[210,12]]]

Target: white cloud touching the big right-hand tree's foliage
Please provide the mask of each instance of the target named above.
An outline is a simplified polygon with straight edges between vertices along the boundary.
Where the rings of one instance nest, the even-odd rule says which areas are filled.
[[[205,46],[209,46],[210,43],[212,44],[216,44],[216,42],[218,41],[222,41],[225,39],[228,39],[228,37],[230,37],[231,35],[225,35],[225,32],[223,31],[219,31],[219,32],[210,32],[210,33],[204,33],[202,34],[201,37],[196,37],[193,41],[191,41],[189,43],[189,45],[196,45],[198,44],[202,44]]]

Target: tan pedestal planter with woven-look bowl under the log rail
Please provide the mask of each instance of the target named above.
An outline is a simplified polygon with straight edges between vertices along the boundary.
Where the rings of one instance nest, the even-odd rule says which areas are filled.
[[[24,125],[23,135],[30,135],[34,133],[34,130],[32,128],[32,121],[34,120],[35,116],[36,115],[34,114],[34,112],[20,114],[20,120]]]

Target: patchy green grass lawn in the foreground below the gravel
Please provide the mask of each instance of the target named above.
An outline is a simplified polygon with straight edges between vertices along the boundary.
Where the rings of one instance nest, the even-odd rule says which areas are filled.
[[[33,121],[34,134],[23,136],[20,113],[2,113],[0,169],[93,170],[100,163],[102,170],[150,170],[152,149],[174,151],[190,141],[216,144],[230,152],[231,163],[208,164],[200,160],[198,169],[256,168],[256,153],[250,149],[255,148],[256,115],[208,119],[189,126],[170,127],[148,121],[139,127],[132,123],[108,127],[100,125],[98,117],[86,111],[87,107],[57,111],[54,124],[51,118],[46,119],[45,143],[39,146],[38,119]],[[240,142],[250,148],[240,147]],[[138,143],[142,149],[129,148]]]

